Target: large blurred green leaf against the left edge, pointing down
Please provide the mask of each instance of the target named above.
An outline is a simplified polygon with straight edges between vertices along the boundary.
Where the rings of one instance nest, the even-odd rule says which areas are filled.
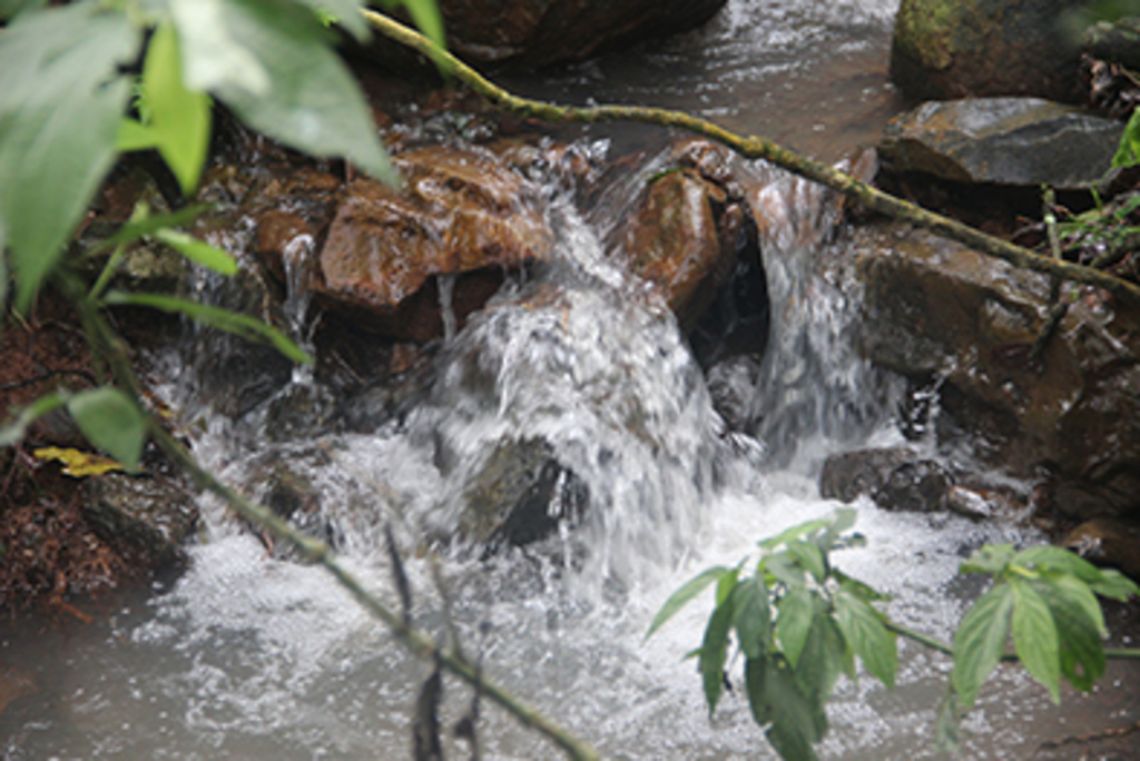
[[[0,34],[0,220],[26,312],[115,158],[140,43],[124,13],[74,3]]]

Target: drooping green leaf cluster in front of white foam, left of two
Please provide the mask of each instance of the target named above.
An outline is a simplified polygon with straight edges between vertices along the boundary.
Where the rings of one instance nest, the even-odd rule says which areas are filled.
[[[855,510],[840,509],[759,542],[751,573],[741,574],[743,562],[705,571],[665,603],[646,635],[715,583],[716,607],[695,652],[709,712],[720,699],[734,639],[752,717],[787,759],[816,758],[813,745],[828,730],[826,702],[840,674],[856,678],[856,656],[870,674],[895,684],[895,633],[873,606],[886,597],[829,558],[832,550],[864,543],[848,532],[854,523]]]

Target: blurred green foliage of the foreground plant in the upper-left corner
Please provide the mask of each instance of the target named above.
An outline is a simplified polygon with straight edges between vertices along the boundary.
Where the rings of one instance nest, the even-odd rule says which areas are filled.
[[[388,5],[405,6],[442,42],[434,0]],[[23,313],[51,276],[66,279],[73,263],[67,244],[122,153],[156,150],[192,197],[206,161],[214,99],[293,148],[342,157],[397,182],[327,28],[335,22],[366,40],[361,9],[363,0],[76,0],[54,7],[2,0],[0,18],[8,24],[0,27],[0,313],[8,303],[9,264],[14,306]],[[294,361],[311,361],[251,317],[162,294],[108,292],[123,256],[144,238],[233,275],[237,263],[229,253],[177,229],[198,212],[153,216],[140,206],[97,246],[112,253],[90,291],[72,288],[70,297],[89,311],[135,305],[181,313],[269,343]],[[89,343],[97,352],[109,349],[106,336],[89,335]],[[138,468],[148,418],[132,394],[109,385],[39,399],[0,429],[0,445],[17,443],[32,422],[58,408],[91,443],[127,469]]]

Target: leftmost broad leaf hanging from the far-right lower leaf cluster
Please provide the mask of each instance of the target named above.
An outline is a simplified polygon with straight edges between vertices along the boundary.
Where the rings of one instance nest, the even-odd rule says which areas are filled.
[[[982,685],[1001,660],[1009,637],[1013,590],[999,583],[983,595],[962,616],[954,632],[952,680],[962,705],[974,705]]]

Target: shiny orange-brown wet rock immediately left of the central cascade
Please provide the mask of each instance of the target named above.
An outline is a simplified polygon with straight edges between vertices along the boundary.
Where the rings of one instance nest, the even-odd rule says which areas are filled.
[[[370,180],[347,189],[319,255],[315,292],[385,335],[429,341],[503,280],[546,257],[551,231],[535,188],[484,152],[426,148],[397,159],[404,193]]]

